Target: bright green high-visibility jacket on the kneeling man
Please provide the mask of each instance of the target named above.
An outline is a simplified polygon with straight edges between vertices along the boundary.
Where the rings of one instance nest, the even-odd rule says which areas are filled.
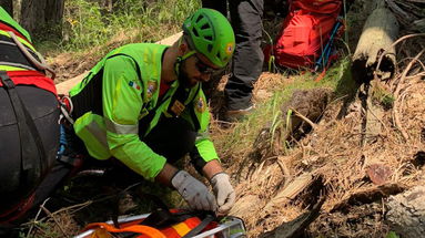
[[[154,153],[143,138],[161,116],[173,116],[169,107],[181,93],[179,81],[159,100],[161,61],[165,45],[136,43],[113,50],[89,75],[70,91],[75,112],[75,134],[89,154],[98,159],[115,157],[146,179],[161,172],[166,159]],[[195,146],[203,163],[217,159],[208,136],[210,113],[199,83],[185,89],[180,116],[199,132]],[[182,107],[181,107],[182,108]],[[143,132],[139,123],[149,118]],[[146,122],[144,122],[146,123]],[[166,135],[164,135],[166,136]],[[198,163],[196,163],[198,164]]]

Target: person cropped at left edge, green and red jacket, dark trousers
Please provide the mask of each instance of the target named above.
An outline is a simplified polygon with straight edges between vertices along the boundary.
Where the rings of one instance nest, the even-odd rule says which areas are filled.
[[[30,34],[0,7],[0,237],[45,199],[38,188],[55,162],[59,103]]]

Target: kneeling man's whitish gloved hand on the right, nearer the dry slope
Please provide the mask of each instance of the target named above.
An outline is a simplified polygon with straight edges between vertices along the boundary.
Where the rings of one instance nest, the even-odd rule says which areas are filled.
[[[230,184],[230,177],[225,173],[219,173],[211,178],[211,185],[216,196],[219,214],[229,214],[235,200],[235,193]]]

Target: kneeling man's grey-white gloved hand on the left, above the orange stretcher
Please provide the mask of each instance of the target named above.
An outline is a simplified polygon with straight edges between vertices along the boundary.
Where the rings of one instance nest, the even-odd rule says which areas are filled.
[[[214,196],[204,184],[192,177],[188,172],[178,172],[171,179],[171,184],[191,208],[196,210],[216,210]]]

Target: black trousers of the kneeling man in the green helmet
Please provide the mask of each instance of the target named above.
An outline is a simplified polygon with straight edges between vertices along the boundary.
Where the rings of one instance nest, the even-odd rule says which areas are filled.
[[[71,128],[72,130],[72,128]],[[49,176],[42,182],[36,192],[36,201],[41,203],[45,199],[55,187],[58,187],[65,177],[70,177],[78,170],[101,168],[105,169],[105,178],[115,184],[131,184],[140,180],[140,175],[133,173],[119,159],[111,158],[107,161],[99,161],[89,156],[84,148],[84,144],[73,131],[67,130],[68,143],[70,145],[69,153],[71,156],[78,155],[83,157],[83,165],[73,167],[70,163],[59,161],[52,168]],[[175,163],[182,158],[186,153],[194,148],[194,142],[196,138],[196,132],[194,132],[189,123],[183,118],[161,118],[159,124],[145,136],[141,137],[153,152],[164,156],[169,163]],[[117,178],[121,179],[117,179]]]

